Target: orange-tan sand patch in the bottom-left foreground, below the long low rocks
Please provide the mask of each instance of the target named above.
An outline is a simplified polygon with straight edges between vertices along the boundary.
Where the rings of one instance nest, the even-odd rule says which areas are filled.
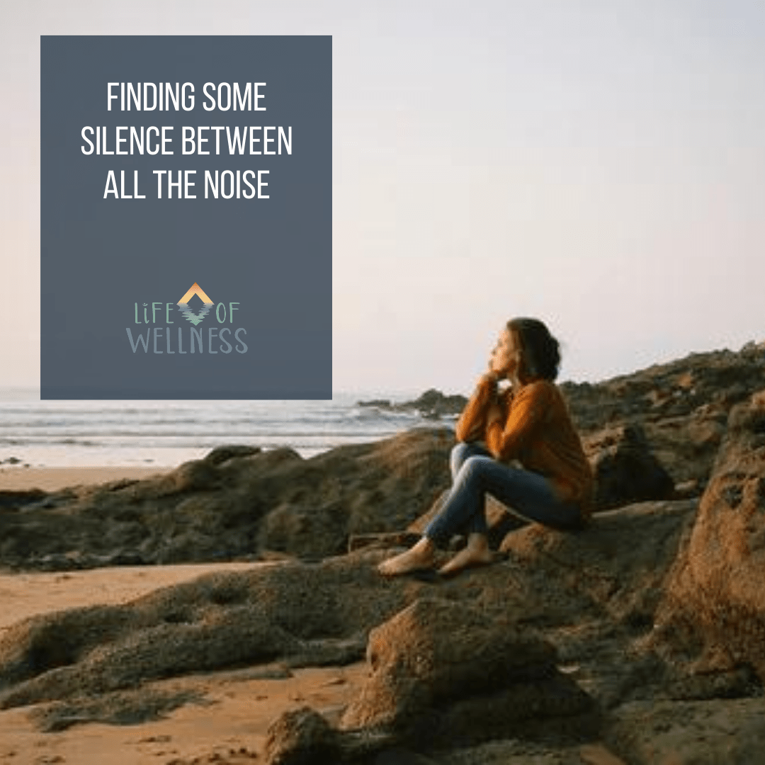
[[[155,683],[199,700],[163,720],[128,726],[91,723],[57,733],[36,731],[28,708],[0,713],[0,762],[13,765],[244,765],[262,762],[265,732],[281,711],[347,703],[366,668],[299,669],[281,679],[250,679],[248,670]],[[251,673],[250,673],[251,674]]]

